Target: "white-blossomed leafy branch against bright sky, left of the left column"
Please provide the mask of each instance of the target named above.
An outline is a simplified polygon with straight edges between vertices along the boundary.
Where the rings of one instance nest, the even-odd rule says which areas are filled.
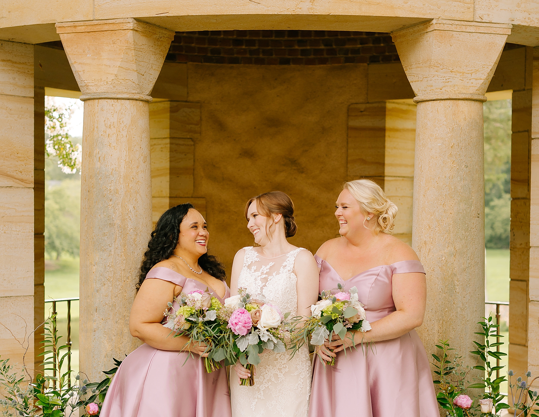
[[[58,166],[67,174],[80,170],[81,147],[73,144],[67,134],[67,121],[71,118],[70,106],[63,107],[49,102],[45,106],[45,155],[57,156]]]

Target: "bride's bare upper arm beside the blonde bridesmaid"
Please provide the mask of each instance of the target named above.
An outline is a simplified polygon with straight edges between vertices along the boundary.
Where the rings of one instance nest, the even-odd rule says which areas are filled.
[[[310,316],[310,306],[318,299],[319,269],[314,256],[302,250],[296,256],[294,273],[298,277],[298,316]]]

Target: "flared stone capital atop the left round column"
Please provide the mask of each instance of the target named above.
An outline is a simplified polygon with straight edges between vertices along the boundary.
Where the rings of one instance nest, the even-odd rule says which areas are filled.
[[[132,18],[57,23],[81,100],[151,101],[174,31]]]

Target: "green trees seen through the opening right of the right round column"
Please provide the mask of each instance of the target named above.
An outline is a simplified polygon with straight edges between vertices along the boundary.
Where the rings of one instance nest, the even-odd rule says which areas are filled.
[[[511,103],[495,100],[483,105],[487,248],[509,248]]]

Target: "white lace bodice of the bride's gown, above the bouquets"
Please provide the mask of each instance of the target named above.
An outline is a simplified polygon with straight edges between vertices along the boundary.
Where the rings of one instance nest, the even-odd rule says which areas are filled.
[[[243,268],[239,274],[238,287],[247,288],[254,298],[274,304],[281,312],[298,312],[298,277],[294,274],[296,256],[304,248],[294,249],[288,254],[264,258],[253,247],[245,249]]]

